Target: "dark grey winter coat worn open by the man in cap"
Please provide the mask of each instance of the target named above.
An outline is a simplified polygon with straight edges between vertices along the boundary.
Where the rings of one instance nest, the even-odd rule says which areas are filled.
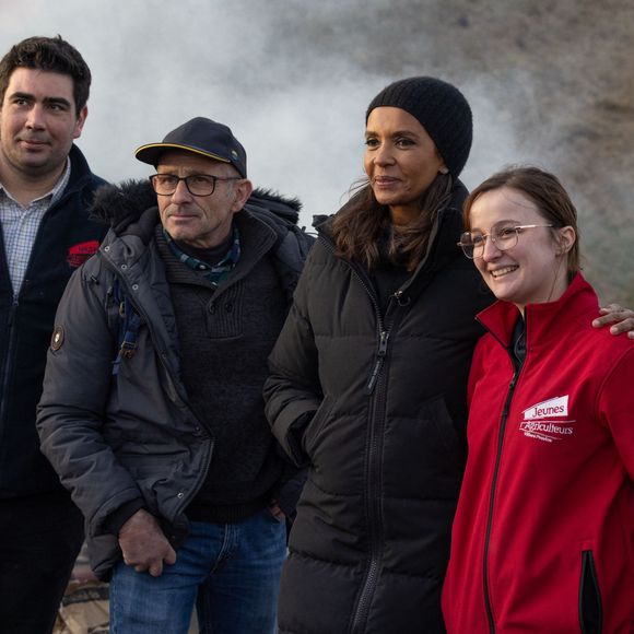
[[[292,249],[282,248],[284,240],[269,226],[274,221],[246,210],[239,215],[266,236],[249,267],[279,243],[280,268],[294,285],[303,245],[295,242],[289,255]],[[124,225],[129,226],[110,230],[97,255],[72,277],[59,305],[38,407],[42,450],[85,516],[91,565],[102,578],[120,557],[117,539],[107,530],[109,516],[142,497],[177,547],[188,530],[184,509],[213,454],[213,438],[190,409],[179,379],[176,320],[153,237],[157,222],[155,208],[132,224],[127,219]],[[113,376],[120,325],[115,278],[133,302],[141,327],[134,355]],[[223,285],[216,295],[231,287]]]

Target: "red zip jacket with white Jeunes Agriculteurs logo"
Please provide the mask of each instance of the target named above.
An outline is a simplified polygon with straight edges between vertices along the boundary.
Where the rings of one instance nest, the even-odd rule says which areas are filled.
[[[527,306],[516,378],[517,308],[479,315],[449,633],[634,632],[634,342],[594,329],[597,315],[580,274]]]

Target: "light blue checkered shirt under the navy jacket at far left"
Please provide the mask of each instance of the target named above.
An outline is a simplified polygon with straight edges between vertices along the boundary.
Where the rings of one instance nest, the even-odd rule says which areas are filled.
[[[61,198],[69,179],[70,158],[67,158],[66,169],[57,185],[48,193],[32,200],[28,207],[22,207],[0,183],[0,224],[14,295],[20,293],[39,223],[50,207]]]

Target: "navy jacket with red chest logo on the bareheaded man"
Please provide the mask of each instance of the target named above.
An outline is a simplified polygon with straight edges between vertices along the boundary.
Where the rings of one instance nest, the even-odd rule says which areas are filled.
[[[89,220],[94,190],[105,181],[79,148],[62,197],[46,212],[17,296],[0,239],[0,498],[61,489],[39,451],[35,408],[57,304],[71,273],[97,250],[107,226]]]

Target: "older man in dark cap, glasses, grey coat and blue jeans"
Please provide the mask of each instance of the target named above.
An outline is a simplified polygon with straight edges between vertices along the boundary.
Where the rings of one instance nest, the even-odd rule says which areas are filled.
[[[153,191],[96,200],[111,230],[60,303],[42,449],[110,578],[113,632],[185,633],[195,603],[201,631],[272,632],[289,476],[261,389],[307,243],[245,208],[226,126],[198,117],[136,155]]]

